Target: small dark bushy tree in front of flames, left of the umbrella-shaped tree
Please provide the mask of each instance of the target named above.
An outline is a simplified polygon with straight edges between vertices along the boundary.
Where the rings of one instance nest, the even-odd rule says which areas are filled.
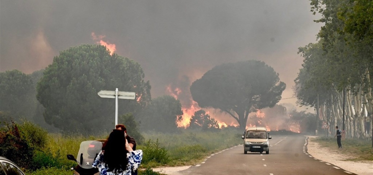
[[[207,131],[208,129],[219,129],[217,121],[206,114],[204,110],[198,110],[194,112],[194,115],[190,119],[189,128],[191,129],[202,129]]]

